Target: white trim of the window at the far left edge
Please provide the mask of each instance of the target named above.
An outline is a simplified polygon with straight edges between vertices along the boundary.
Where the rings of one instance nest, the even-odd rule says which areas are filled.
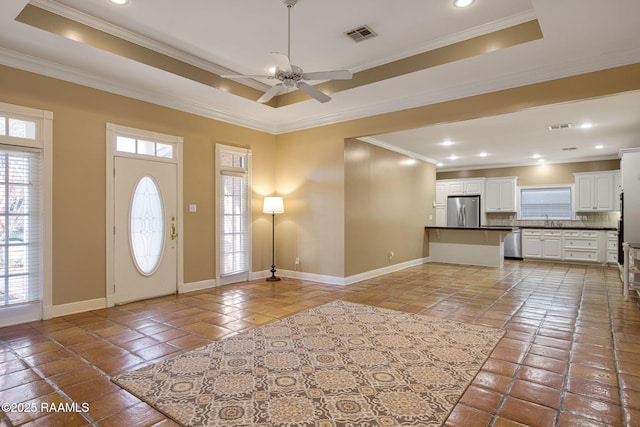
[[[40,127],[40,132],[36,135],[35,141],[6,137],[3,138],[3,143],[42,149],[42,179],[40,180],[42,198],[42,216],[40,218],[42,224],[42,251],[40,255],[40,271],[42,272],[42,304],[37,308],[38,313],[33,314],[37,314],[41,319],[50,319],[52,317],[51,313],[53,304],[53,113],[51,111],[5,104],[2,102],[0,102],[0,111],[8,113],[8,115],[12,117],[22,116],[28,120],[36,120]],[[14,318],[13,323],[17,324],[31,320],[34,319]]]

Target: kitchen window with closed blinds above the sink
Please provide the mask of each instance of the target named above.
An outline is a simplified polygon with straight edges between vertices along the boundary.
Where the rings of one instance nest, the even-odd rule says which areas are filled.
[[[520,219],[571,219],[571,186],[521,187]]]

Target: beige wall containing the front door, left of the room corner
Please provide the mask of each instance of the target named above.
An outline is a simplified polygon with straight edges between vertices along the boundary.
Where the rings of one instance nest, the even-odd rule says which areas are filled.
[[[216,142],[253,150],[254,213],[274,191],[273,135],[12,68],[0,67],[0,76],[1,102],[53,112],[54,305],[105,296],[107,122],[184,137],[186,283],[215,278]],[[190,203],[197,213],[187,212]],[[262,270],[271,264],[263,250],[271,229],[264,215],[254,218],[253,268]]]

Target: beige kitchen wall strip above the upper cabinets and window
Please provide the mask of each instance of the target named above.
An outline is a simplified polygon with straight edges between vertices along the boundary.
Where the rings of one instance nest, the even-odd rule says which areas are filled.
[[[455,172],[438,172],[437,179],[496,178],[517,176],[518,185],[573,184],[574,173],[620,169],[620,159],[593,162],[555,163],[511,168],[474,169]]]

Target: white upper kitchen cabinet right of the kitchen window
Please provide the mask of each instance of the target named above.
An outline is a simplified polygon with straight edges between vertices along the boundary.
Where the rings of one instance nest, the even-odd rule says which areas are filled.
[[[615,210],[616,175],[620,171],[574,173],[576,212]]]

